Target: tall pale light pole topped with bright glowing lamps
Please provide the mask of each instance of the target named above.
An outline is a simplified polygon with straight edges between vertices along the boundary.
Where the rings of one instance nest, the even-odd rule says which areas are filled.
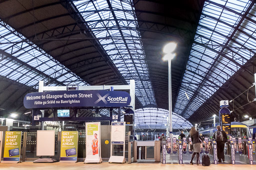
[[[172,140],[172,104],[171,104],[171,59],[174,58],[173,53],[176,43],[170,42],[163,47],[163,60],[168,60],[168,96],[169,96],[169,137]],[[167,135],[167,134],[166,134]]]

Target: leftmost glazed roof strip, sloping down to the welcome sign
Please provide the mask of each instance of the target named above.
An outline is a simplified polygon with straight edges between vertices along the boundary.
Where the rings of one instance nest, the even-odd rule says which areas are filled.
[[[0,20],[0,75],[37,88],[44,80],[50,86],[69,82],[87,85],[78,76]],[[15,42],[15,43],[10,43]]]

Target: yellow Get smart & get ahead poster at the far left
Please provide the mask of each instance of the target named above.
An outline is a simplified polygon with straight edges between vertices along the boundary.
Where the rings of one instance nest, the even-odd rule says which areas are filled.
[[[3,162],[19,162],[21,132],[5,132]]]

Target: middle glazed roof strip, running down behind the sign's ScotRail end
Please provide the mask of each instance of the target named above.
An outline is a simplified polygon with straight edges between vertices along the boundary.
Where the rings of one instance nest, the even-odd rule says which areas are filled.
[[[124,79],[135,80],[135,94],[141,104],[155,105],[132,1],[73,0],[73,3]]]

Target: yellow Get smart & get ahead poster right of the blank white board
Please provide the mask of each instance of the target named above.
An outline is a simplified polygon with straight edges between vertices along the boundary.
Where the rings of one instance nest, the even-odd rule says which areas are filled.
[[[60,161],[77,161],[77,131],[62,131]]]

